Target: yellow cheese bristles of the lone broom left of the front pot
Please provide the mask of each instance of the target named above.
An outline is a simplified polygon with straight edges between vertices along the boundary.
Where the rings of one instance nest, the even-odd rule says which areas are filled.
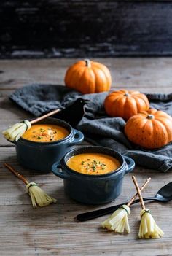
[[[37,206],[48,206],[50,203],[56,203],[57,201],[55,198],[52,198],[50,195],[44,193],[44,190],[38,187],[38,185],[36,185],[34,182],[28,183],[26,185],[26,190],[28,195],[31,196],[33,208],[36,208]]]

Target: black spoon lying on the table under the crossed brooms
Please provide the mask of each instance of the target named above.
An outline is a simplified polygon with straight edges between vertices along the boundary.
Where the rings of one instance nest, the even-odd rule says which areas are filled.
[[[144,201],[147,201],[147,200],[155,200],[160,202],[171,201],[172,200],[172,182],[168,183],[167,185],[162,187],[159,191],[157,191],[157,194],[155,195],[155,197],[143,198],[143,199]],[[139,199],[133,201],[133,203],[138,203],[138,202],[139,202]],[[92,219],[101,217],[103,215],[110,214],[115,210],[117,210],[118,208],[120,208],[120,206],[122,206],[123,204],[127,204],[127,203],[128,202],[118,204],[117,206],[111,206],[111,207],[99,209],[92,212],[85,212],[83,214],[78,214],[76,219],[79,221],[92,220]]]

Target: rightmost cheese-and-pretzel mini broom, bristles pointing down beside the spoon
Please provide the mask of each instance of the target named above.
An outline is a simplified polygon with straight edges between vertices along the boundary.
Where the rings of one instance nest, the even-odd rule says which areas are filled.
[[[138,183],[136,181],[136,177],[132,176],[134,185],[136,186],[136,190],[138,192],[138,197],[140,199],[140,203],[141,203],[141,223],[140,223],[140,228],[139,228],[139,232],[138,232],[138,238],[160,238],[161,236],[164,235],[163,230],[161,230],[154,218],[152,217],[152,214],[150,212],[149,209],[146,209],[144,206],[144,201],[143,198],[141,196],[141,190],[138,187]]]

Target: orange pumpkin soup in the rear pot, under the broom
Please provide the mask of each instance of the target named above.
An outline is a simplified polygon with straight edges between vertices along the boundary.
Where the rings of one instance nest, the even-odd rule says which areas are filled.
[[[69,131],[58,125],[38,124],[32,125],[31,128],[23,134],[23,139],[36,142],[58,141],[69,135]]]

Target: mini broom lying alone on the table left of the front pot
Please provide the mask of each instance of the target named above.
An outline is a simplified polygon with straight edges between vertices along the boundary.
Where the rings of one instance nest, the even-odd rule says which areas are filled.
[[[15,169],[9,166],[9,164],[4,163],[4,166],[7,167],[13,174],[15,174],[18,179],[21,179],[26,184],[26,191],[28,195],[31,196],[33,208],[36,208],[37,206],[48,206],[50,203],[56,203],[56,199],[44,193],[44,190],[38,187],[35,182],[28,182],[25,177],[15,171]]]

